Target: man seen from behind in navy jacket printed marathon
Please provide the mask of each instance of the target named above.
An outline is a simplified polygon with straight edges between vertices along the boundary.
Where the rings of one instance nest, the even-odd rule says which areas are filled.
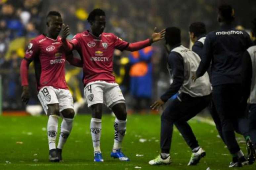
[[[221,119],[222,133],[233,160],[229,167],[242,166],[244,155],[235,139],[236,131],[242,131],[246,123],[238,123],[245,117],[241,112],[241,66],[243,52],[251,46],[249,35],[236,30],[232,23],[235,11],[230,5],[218,8],[218,21],[221,28],[210,32],[205,39],[202,60],[193,80],[201,77],[211,65],[213,102]],[[244,119],[246,120],[246,119]],[[242,126],[241,126],[242,124]],[[249,140],[249,135],[246,137]]]

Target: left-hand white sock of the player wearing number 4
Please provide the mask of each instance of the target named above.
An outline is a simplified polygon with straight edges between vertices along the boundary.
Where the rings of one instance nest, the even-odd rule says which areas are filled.
[[[91,119],[91,135],[93,141],[94,152],[101,152],[100,140],[101,140],[101,119]]]

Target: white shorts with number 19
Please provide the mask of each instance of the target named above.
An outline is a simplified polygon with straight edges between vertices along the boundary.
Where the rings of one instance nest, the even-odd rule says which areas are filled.
[[[48,104],[59,103],[60,112],[65,109],[74,109],[73,97],[67,89],[44,86],[39,90],[37,97],[42,104],[46,115]]]

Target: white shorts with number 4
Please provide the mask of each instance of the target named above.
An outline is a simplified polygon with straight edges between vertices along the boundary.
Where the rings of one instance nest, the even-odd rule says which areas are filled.
[[[117,83],[91,82],[84,87],[84,96],[88,107],[103,103],[111,109],[117,103],[125,103],[123,93]]]

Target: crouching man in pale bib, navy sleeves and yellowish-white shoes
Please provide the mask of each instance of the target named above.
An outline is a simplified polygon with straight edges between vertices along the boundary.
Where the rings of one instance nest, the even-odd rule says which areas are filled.
[[[200,57],[195,52],[181,45],[181,31],[179,28],[166,28],[165,46],[169,53],[167,68],[173,78],[173,83],[168,91],[150,107],[158,110],[174,94],[179,94],[163,111],[161,116],[161,153],[155,159],[150,160],[149,164],[171,163],[170,146],[173,125],[175,124],[192,150],[188,166],[196,165],[206,153],[198,145],[187,121],[209,105],[211,100],[209,76],[208,73],[205,73],[198,82],[192,82],[192,75],[199,65]]]

